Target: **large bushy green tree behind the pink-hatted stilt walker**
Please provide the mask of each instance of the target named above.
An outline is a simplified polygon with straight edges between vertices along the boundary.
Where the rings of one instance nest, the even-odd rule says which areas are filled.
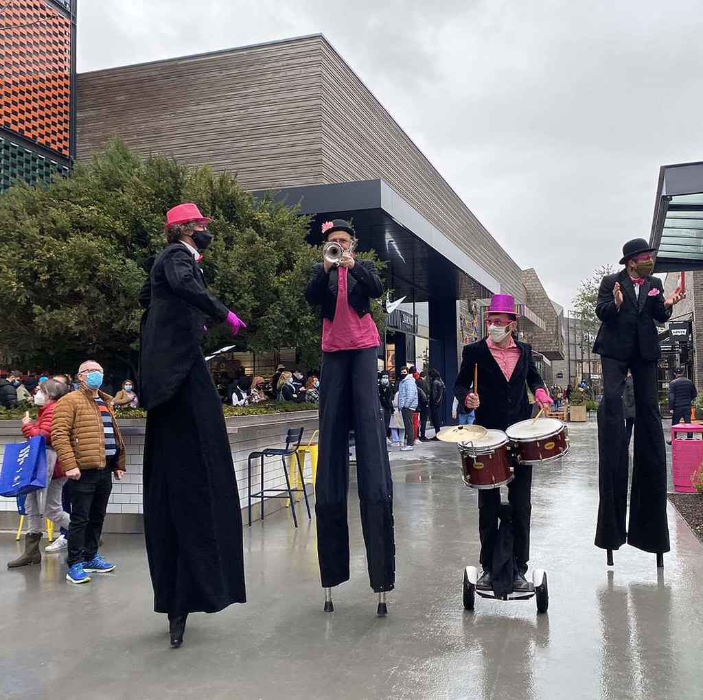
[[[273,197],[254,200],[232,173],[143,160],[120,141],[51,186],[0,195],[0,363],[70,370],[93,356],[136,372],[138,292],[165,245],[165,211],[179,202],[214,219],[205,275],[249,326],[238,344],[295,346],[315,365],[321,323],[303,291],[321,252],[307,243],[309,219]],[[226,326],[211,328],[205,350],[231,342]]]

